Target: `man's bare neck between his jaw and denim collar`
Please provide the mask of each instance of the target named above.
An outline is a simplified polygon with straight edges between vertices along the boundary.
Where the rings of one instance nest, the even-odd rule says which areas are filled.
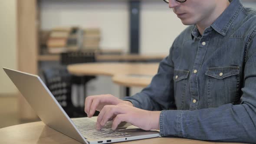
[[[225,1],[225,2],[224,2]],[[219,4],[216,9],[211,13],[210,16],[201,20],[197,23],[198,31],[201,35],[203,35],[204,30],[209,27],[217,18],[226,10],[226,8],[230,5],[228,0],[224,0],[223,4]]]

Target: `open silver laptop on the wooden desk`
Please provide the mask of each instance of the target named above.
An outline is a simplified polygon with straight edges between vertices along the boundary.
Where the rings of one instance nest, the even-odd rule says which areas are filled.
[[[96,130],[96,119],[70,119],[38,75],[3,68],[20,93],[43,121],[44,124],[83,144],[106,144],[160,137],[159,131],[144,131],[119,124],[117,130],[111,129],[111,122],[102,130]],[[128,126],[128,127],[126,127]]]

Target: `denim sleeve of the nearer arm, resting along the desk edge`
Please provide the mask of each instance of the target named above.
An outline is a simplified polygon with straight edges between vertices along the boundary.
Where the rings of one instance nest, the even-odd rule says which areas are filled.
[[[256,45],[252,48],[246,57],[239,105],[161,111],[161,136],[256,143]]]

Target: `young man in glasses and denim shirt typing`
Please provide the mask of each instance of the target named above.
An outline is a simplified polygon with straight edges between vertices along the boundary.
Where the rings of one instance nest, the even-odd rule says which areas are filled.
[[[169,7],[192,26],[151,84],[123,100],[90,96],[85,112],[100,111],[98,129],[113,119],[113,129],[126,121],[161,136],[256,143],[256,11],[239,0],[170,0]]]

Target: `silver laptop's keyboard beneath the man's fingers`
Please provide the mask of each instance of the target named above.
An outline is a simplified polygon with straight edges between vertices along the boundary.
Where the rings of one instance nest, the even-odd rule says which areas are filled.
[[[74,120],[74,123],[85,138],[102,139],[131,136],[131,133],[124,132],[125,129],[113,131],[111,126],[102,128],[102,130],[96,130],[95,121],[89,119]]]

